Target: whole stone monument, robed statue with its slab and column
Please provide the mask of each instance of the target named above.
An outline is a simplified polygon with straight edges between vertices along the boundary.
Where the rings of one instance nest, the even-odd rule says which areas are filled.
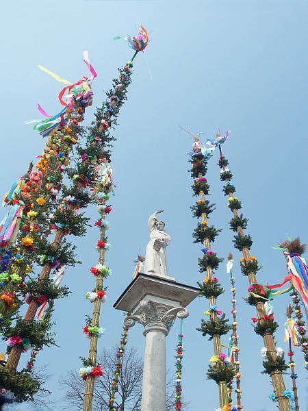
[[[199,289],[179,284],[168,277],[166,246],[171,237],[164,232],[159,210],[149,219],[150,242],[146,247],[145,273],[136,273],[114,307],[131,312],[125,326],[144,326],[144,371],[141,411],[166,411],[166,336],[175,316],[188,316],[185,308],[199,295]],[[182,258],[183,256],[179,256]]]

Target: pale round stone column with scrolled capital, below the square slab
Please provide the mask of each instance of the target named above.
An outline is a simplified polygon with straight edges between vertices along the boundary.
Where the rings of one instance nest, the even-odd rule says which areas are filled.
[[[138,323],[144,325],[145,336],[144,368],[142,379],[141,411],[166,411],[166,336],[169,324],[175,316],[183,319],[188,310],[183,307],[170,308],[166,304],[144,298],[140,301],[137,314],[127,316],[125,326],[133,327]]]

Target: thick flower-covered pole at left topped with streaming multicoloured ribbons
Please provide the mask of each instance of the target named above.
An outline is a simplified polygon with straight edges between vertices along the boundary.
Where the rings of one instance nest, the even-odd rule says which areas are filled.
[[[44,321],[36,323],[34,317],[42,303],[51,301],[55,298],[55,295],[59,297],[60,292],[54,292],[53,284],[49,282],[51,270],[60,263],[65,264],[64,260],[67,260],[66,262],[70,260],[72,264],[75,264],[73,249],[69,245],[60,247],[64,236],[70,232],[73,234],[73,229],[69,225],[64,227],[58,220],[64,222],[67,219],[73,219],[73,210],[78,208],[78,203],[68,197],[64,197],[60,201],[55,200],[62,188],[62,172],[64,167],[68,166],[70,153],[73,153],[73,145],[78,140],[79,123],[84,119],[85,108],[92,103],[90,84],[96,73],[90,66],[90,62],[88,62],[87,54],[84,55],[84,59],[90,68],[92,77],[90,79],[85,77],[75,84],[66,86],[62,90],[62,94],[60,93],[60,101],[65,105],[64,110],[56,116],[49,116],[46,121],[41,121],[34,126],[42,136],[49,136],[44,153],[40,156],[38,164],[36,164],[38,171],[31,171],[25,184],[18,187],[18,192],[16,189],[10,192],[10,200],[13,199],[13,203],[14,199],[17,198],[23,199],[24,203],[20,232],[16,242],[14,242],[14,247],[19,252],[18,258],[23,262],[33,263],[36,261],[43,266],[38,280],[31,283],[33,288],[24,287],[29,292],[29,297],[26,297],[29,307],[24,319],[18,316],[15,327],[6,327],[2,330],[4,336],[10,332],[17,332],[15,334],[16,338],[14,338],[15,336],[10,337],[11,340],[9,338],[11,344],[9,345],[9,358],[6,368],[12,374],[16,373],[21,353],[25,349],[24,339],[32,345],[36,345],[35,340],[41,341],[40,344],[43,343],[43,340],[47,345],[52,343],[52,340],[46,338],[45,334],[50,324]],[[47,69],[44,69],[44,71],[47,71]],[[51,75],[56,76],[57,79],[60,78],[54,73],[51,73]],[[62,101],[65,90],[70,92],[67,103]],[[40,111],[43,112],[41,108]],[[52,218],[48,217],[50,212],[53,214]],[[73,222],[76,235],[82,235],[80,232],[77,233],[78,229],[76,230],[76,228],[77,225],[80,228],[84,223],[85,219],[82,216],[77,216]],[[55,238],[53,242],[48,242],[47,235],[52,230],[55,231]],[[84,232],[83,229],[81,229],[81,232]],[[14,264],[15,262],[12,260],[9,269],[14,270]],[[31,267],[31,265],[29,266]],[[23,280],[25,273],[20,277]],[[31,338],[28,338],[30,335]],[[43,335],[44,338],[42,338]]]

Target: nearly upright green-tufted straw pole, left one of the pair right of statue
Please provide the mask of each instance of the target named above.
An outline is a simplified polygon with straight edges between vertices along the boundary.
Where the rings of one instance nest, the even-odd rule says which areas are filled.
[[[218,258],[216,253],[211,250],[211,242],[215,241],[220,229],[214,226],[207,225],[209,214],[213,211],[213,205],[205,196],[209,193],[209,184],[205,177],[207,172],[207,161],[211,157],[211,151],[214,147],[206,149],[206,147],[199,141],[199,136],[193,136],[194,144],[192,152],[189,153],[192,163],[191,175],[194,177],[194,186],[192,190],[194,195],[198,196],[198,201],[195,206],[192,206],[193,214],[196,218],[201,217],[201,223],[194,230],[194,242],[201,242],[203,245],[203,258],[198,259],[199,271],[205,272],[206,276],[203,283],[198,283],[200,286],[200,295],[204,296],[209,301],[209,310],[205,314],[209,316],[209,321],[201,320],[201,331],[203,336],[209,336],[209,340],[214,342],[214,356],[210,358],[212,365],[209,365],[207,372],[208,379],[214,379],[219,388],[219,403],[222,410],[229,410],[229,397],[227,393],[227,384],[231,382],[235,375],[235,369],[227,360],[227,355],[222,353],[222,345],[220,336],[227,334],[231,327],[227,324],[225,314],[218,310],[216,306],[216,298],[224,292],[220,287],[218,278],[214,276],[214,270],[218,269],[222,258]]]

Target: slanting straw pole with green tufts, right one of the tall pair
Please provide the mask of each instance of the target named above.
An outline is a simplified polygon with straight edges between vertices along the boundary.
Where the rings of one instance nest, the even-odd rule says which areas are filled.
[[[274,332],[278,327],[278,324],[274,321],[274,317],[267,314],[266,305],[268,301],[264,287],[257,284],[256,273],[261,268],[254,256],[251,256],[250,249],[253,244],[251,236],[244,234],[244,229],[247,225],[247,219],[244,219],[242,214],[238,214],[238,210],[242,208],[241,201],[237,197],[233,197],[235,192],[235,186],[231,184],[232,173],[227,169],[229,164],[228,160],[223,157],[221,151],[221,144],[227,139],[229,133],[224,137],[220,137],[218,133],[216,135],[215,143],[220,150],[220,179],[225,183],[223,187],[224,195],[229,196],[228,207],[233,212],[233,218],[230,221],[231,229],[237,233],[234,237],[234,247],[239,251],[242,251],[243,258],[241,259],[241,271],[248,277],[249,288],[248,298],[246,301],[255,306],[257,310],[257,319],[253,319],[257,325],[255,326],[256,334],[259,334],[264,339],[264,345],[266,347],[266,358],[264,361],[265,373],[268,373],[272,379],[272,385],[274,388],[274,396],[276,397],[279,410],[290,411],[290,402],[285,393],[285,383],[283,382],[282,373],[287,369],[285,360],[282,356],[277,356],[277,349],[274,343]]]

